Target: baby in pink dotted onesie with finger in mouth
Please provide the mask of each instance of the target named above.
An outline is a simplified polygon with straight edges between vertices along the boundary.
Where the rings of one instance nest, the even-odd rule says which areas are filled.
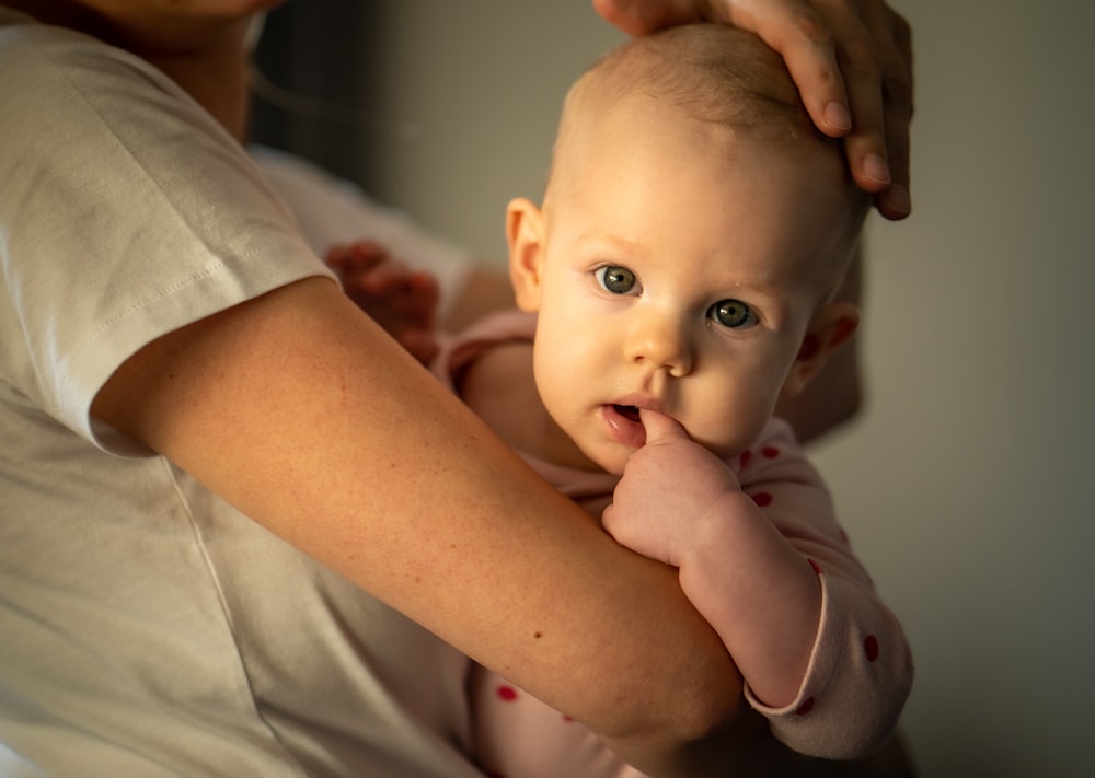
[[[857,326],[833,294],[868,205],[757,38],[631,40],[570,90],[542,206],[509,205],[520,310],[439,363],[619,543],[679,569],[752,708],[830,758],[891,732],[912,664],[773,409]],[[500,676],[473,684],[489,775],[637,775]]]

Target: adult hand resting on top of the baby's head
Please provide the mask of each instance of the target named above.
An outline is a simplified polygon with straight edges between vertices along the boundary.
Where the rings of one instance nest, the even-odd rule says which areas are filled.
[[[631,35],[675,24],[725,22],[779,51],[806,109],[826,135],[843,137],[852,175],[887,219],[909,197],[912,34],[883,0],[593,0]]]

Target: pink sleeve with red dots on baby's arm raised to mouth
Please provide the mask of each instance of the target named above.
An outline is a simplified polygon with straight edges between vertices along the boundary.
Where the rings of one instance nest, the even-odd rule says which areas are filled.
[[[822,592],[817,640],[796,699],[769,708],[748,685],[746,697],[795,751],[863,756],[892,732],[912,686],[901,625],[852,553],[828,489],[785,422],[770,423],[736,469],[742,490],[814,567]]]

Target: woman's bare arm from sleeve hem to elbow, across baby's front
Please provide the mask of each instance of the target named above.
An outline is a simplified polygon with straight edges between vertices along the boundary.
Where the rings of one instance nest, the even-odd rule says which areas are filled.
[[[673,571],[616,546],[330,280],[153,341],[92,411],[641,762],[737,709]]]

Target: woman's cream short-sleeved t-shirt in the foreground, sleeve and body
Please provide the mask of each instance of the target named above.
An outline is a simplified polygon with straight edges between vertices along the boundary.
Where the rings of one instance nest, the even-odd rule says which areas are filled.
[[[89,420],[145,344],[326,272],[258,169],[157,70],[2,9],[0,104],[4,769],[477,775],[462,655]]]

